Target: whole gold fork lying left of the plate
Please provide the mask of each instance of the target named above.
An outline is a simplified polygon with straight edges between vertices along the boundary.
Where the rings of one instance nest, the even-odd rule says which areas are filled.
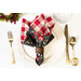
[[[15,64],[15,57],[14,57],[14,53],[13,53],[13,50],[12,50],[12,42],[13,42],[13,35],[12,35],[12,31],[8,31],[8,38],[9,38],[9,42],[11,44],[11,56],[12,56],[12,64]]]

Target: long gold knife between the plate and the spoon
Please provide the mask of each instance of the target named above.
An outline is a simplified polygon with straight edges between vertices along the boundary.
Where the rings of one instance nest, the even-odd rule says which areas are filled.
[[[65,38],[66,38],[66,63],[69,64],[69,51],[68,51],[68,25],[65,26]]]

